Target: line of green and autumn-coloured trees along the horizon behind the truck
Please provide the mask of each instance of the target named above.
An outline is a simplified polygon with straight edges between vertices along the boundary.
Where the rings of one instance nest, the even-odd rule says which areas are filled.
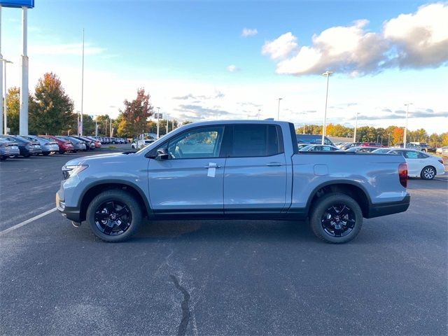
[[[6,99],[8,127],[10,134],[19,132],[20,89],[10,87]],[[154,107],[151,96],[143,88],[137,90],[137,97],[131,101],[125,99],[123,109],[118,110],[118,118],[112,120],[109,114],[94,113],[95,116],[83,114],[83,134],[95,134],[95,120],[98,135],[110,137],[111,123],[114,137],[134,138],[141,133],[156,133]],[[95,120],[94,120],[95,118]],[[173,130],[172,120],[159,120],[159,134],[164,135]],[[188,121],[183,124],[190,123]],[[52,72],[45,73],[38,80],[34,94],[29,94],[29,134],[76,134],[78,114],[74,111],[73,99],[66,94],[59,77]],[[180,123],[174,120],[174,128]],[[356,141],[397,144],[403,141],[403,128],[398,126],[372,127],[362,126],[356,130]],[[297,134],[322,134],[320,125],[298,127]],[[353,139],[353,128],[339,124],[328,124],[326,134],[330,137]],[[448,146],[448,132],[428,134],[423,128],[407,131],[407,141],[426,142],[431,146]]]

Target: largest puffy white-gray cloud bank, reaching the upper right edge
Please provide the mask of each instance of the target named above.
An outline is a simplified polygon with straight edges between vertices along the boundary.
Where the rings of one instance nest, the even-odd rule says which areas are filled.
[[[399,15],[383,30],[368,31],[367,20],[348,27],[331,27],[299,47],[288,32],[262,46],[262,54],[276,61],[276,73],[320,74],[330,69],[350,76],[378,73],[388,67],[435,67],[448,62],[448,4],[421,6],[414,14]]]

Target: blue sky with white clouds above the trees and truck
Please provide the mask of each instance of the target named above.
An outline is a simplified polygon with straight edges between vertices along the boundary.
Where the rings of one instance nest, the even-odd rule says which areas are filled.
[[[7,86],[21,10],[1,10]],[[448,2],[36,0],[29,88],[52,71],[80,110],[113,118],[137,88],[164,118],[277,118],[448,132]],[[280,109],[279,109],[279,98]]]

